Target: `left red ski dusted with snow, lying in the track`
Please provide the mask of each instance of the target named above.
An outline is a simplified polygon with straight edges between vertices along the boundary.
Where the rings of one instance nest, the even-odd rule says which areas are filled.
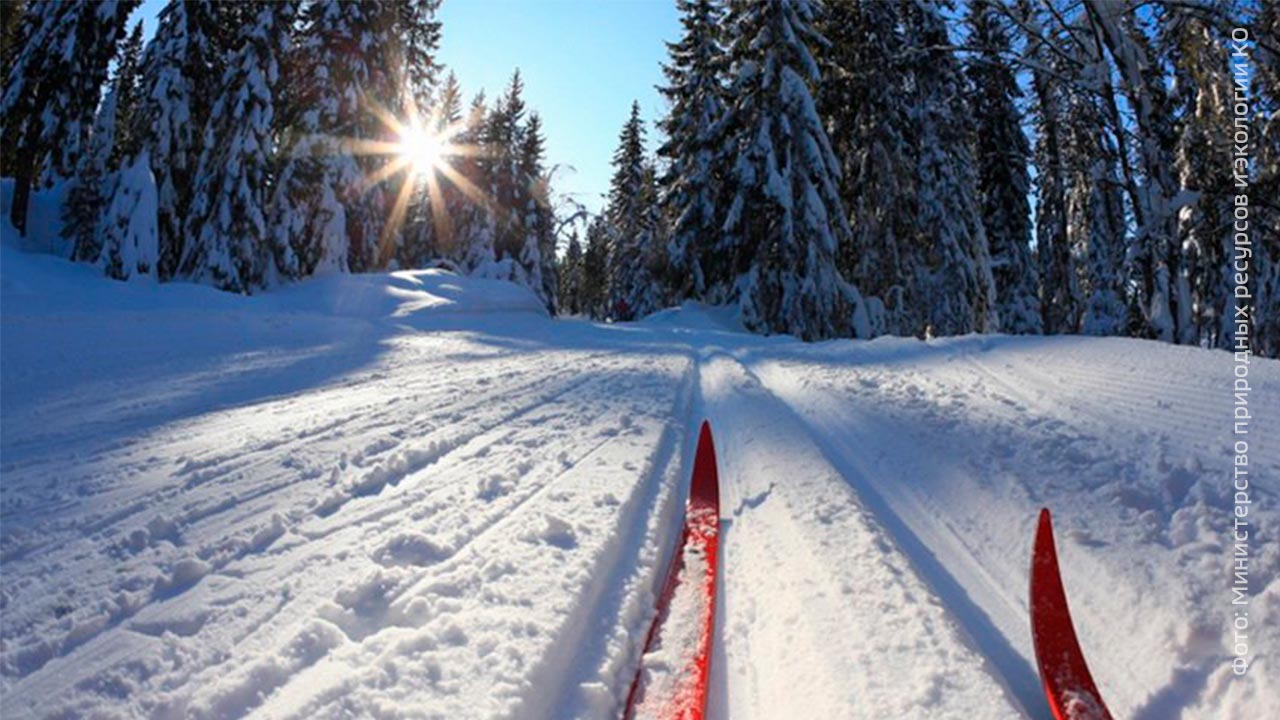
[[[701,720],[707,712],[718,541],[716,445],[710,424],[703,421],[685,506],[685,530],[667,570],[644,657],[631,682],[627,719]]]

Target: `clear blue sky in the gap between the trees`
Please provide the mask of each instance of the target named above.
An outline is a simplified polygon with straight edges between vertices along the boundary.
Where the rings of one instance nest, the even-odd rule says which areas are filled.
[[[168,0],[145,0],[146,33]],[[470,101],[502,92],[517,67],[525,99],[547,132],[547,163],[561,165],[554,188],[591,210],[603,205],[618,131],[640,101],[649,123],[666,110],[664,40],[680,35],[675,0],[444,0],[440,61]]]

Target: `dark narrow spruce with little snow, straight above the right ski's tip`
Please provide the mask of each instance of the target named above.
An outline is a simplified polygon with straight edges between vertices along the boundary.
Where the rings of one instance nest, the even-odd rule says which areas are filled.
[[[991,249],[996,307],[1001,329],[1039,333],[1039,282],[1032,260],[1032,213],[1028,201],[1030,145],[1023,133],[1018,101],[1021,90],[1006,56],[1009,31],[986,3],[969,5],[965,24],[974,49],[965,70],[973,85],[973,156],[978,165],[978,201]]]

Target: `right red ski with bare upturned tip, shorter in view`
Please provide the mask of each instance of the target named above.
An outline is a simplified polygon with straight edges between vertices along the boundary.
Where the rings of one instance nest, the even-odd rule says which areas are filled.
[[[1041,510],[1032,551],[1032,639],[1039,664],[1044,696],[1056,720],[1111,720],[1106,703],[1093,684],[1084,652],[1075,638],[1066,591],[1057,569],[1053,521]]]

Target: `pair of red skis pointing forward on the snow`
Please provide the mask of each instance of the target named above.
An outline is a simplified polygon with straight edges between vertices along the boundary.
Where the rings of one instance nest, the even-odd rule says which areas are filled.
[[[645,662],[641,660],[627,694],[626,720],[703,720],[716,630],[718,550],[719,475],[712,428],[703,421],[694,454],[685,528],[658,598],[658,614],[645,638],[646,656],[655,648],[662,648],[664,655],[678,657],[675,670],[677,676],[673,683],[664,683],[662,688],[649,687],[645,682]],[[696,632],[691,638],[684,638],[687,647],[666,648],[662,647],[664,621],[671,616],[672,601],[677,594],[681,596],[686,614],[692,611]],[[1055,720],[1111,720],[1075,637],[1057,566],[1053,523],[1047,509],[1041,510],[1036,546],[1032,550],[1030,614],[1036,660]],[[677,652],[672,653],[672,650]],[[659,689],[660,692],[653,692]]]

